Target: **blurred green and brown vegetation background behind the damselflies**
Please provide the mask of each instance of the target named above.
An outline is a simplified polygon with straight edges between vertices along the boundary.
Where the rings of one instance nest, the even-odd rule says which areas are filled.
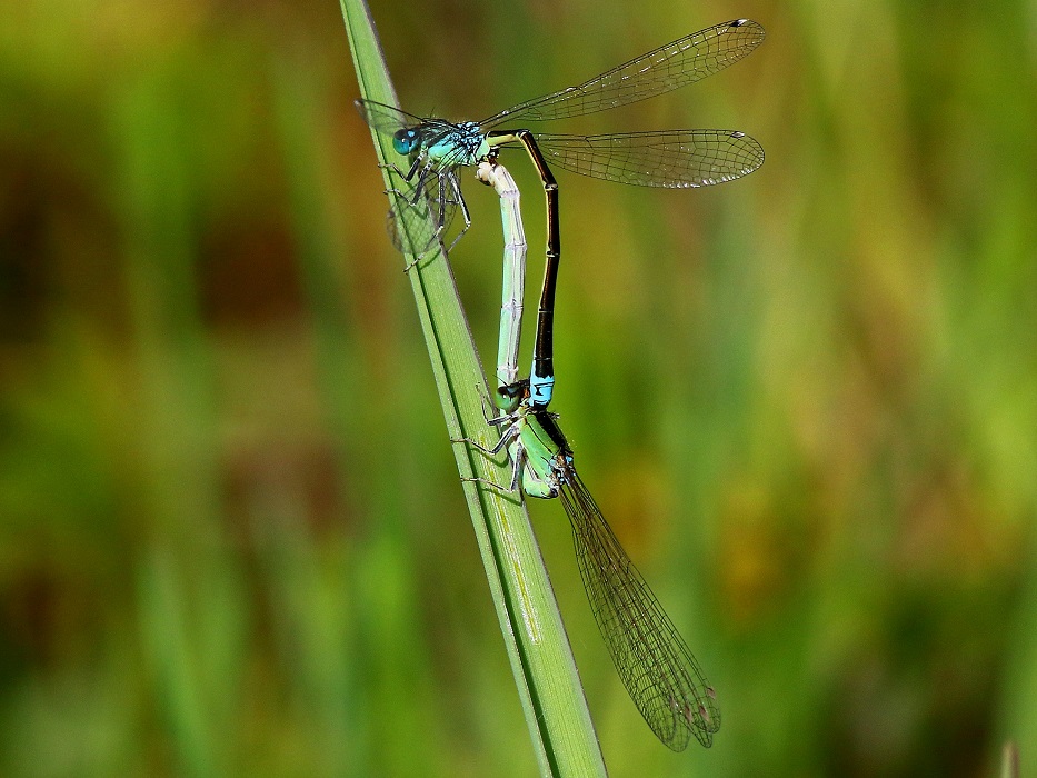
[[[768,31],[558,127],[768,154],[559,172],[555,409],[724,710],[655,740],[532,505],[611,774],[1037,771],[1037,6],[379,6],[403,106],[458,119]],[[335,2],[0,8],[0,775],[534,775],[356,97]]]

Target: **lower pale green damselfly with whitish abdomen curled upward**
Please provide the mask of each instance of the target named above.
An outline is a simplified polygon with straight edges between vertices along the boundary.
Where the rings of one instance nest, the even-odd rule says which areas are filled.
[[[516,380],[526,256],[519,192],[502,164],[483,162],[477,177],[500,197],[505,291],[497,379],[509,391],[498,391],[503,413],[489,420],[501,430],[496,446],[463,442],[488,456],[507,448],[512,471],[507,487],[473,480],[512,492],[521,488],[531,497],[561,498],[587,599],[630,698],[656,736],[674,750],[682,750],[691,735],[708,747],[720,726],[716,692],[577,473],[557,415],[530,401],[528,380]]]

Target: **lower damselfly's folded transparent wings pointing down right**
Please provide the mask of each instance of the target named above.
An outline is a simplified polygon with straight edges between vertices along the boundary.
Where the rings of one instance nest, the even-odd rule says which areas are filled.
[[[590,609],[637,709],[675,751],[691,735],[709,747],[720,708],[698,661],[575,472],[561,487],[561,502]]]

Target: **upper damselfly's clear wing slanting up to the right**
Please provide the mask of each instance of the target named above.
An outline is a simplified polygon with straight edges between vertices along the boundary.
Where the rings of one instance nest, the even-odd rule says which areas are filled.
[[[618,108],[678,89],[734,64],[764,41],[764,28],[749,19],[710,27],[641,54],[618,68],[554,94],[497,113],[480,122],[546,121]]]

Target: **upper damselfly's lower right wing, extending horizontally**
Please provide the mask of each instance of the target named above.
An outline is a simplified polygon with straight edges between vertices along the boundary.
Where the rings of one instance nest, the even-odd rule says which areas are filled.
[[[707,187],[747,176],[764,163],[760,144],[731,130],[536,138],[549,166],[641,187]]]

